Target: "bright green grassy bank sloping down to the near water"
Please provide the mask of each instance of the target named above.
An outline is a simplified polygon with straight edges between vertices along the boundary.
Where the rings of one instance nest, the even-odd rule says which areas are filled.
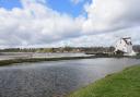
[[[68,97],[140,97],[140,65],[107,75]]]

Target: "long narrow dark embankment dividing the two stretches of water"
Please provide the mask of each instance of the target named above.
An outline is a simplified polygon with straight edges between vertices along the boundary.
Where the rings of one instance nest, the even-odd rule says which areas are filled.
[[[81,57],[57,57],[57,58],[16,58],[16,59],[5,59],[0,60],[0,66],[11,65],[14,63],[24,63],[24,62],[42,62],[42,61],[60,61],[60,60],[79,60],[79,59],[95,59],[95,58],[137,58],[137,57],[124,57],[124,56],[108,56],[108,54],[91,54],[91,56],[81,56]]]

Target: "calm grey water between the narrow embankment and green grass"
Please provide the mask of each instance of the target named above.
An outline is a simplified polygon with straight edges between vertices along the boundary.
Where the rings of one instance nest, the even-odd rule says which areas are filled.
[[[137,59],[98,58],[2,66],[0,97],[56,97],[139,63]]]

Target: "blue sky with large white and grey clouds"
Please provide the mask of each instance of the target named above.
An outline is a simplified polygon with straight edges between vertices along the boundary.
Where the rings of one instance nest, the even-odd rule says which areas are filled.
[[[0,0],[0,47],[140,44],[140,0]]]

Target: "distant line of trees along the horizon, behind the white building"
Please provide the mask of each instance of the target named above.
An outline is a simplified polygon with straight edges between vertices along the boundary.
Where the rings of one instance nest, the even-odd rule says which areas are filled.
[[[114,52],[114,47],[5,48],[0,52]],[[140,45],[133,46],[140,52]]]

